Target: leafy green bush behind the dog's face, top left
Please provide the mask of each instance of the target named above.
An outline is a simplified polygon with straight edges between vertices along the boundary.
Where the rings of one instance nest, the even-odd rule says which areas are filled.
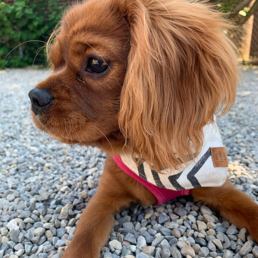
[[[12,5],[0,2],[0,68],[2,65],[32,65],[37,51],[44,46],[43,42],[46,42],[56,26],[63,8],[57,0],[37,0],[37,3],[33,0],[17,0]],[[31,42],[24,43],[26,41]],[[21,43],[24,44],[17,47]],[[6,57],[12,49],[14,50]],[[44,48],[36,57],[35,64],[46,63],[43,50]]]

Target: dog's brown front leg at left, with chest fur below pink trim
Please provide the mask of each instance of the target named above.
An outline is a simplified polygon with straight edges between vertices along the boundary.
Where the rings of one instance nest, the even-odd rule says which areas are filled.
[[[137,190],[137,186],[140,189]],[[121,171],[111,157],[107,158],[98,190],[83,211],[63,258],[100,257],[100,249],[105,246],[114,225],[115,213],[139,200],[134,190],[142,197],[150,195],[145,187]],[[149,199],[152,203],[156,201],[152,195]]]

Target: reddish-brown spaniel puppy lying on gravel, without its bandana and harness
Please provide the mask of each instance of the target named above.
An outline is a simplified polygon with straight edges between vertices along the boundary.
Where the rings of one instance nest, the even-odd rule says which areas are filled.
[[[52,73],[29,92],[33,121],[58,141],[108,153],[64,258],[99,257],[116,212],[157,203],[117,157],[160,176],[198,165],[204,128],[236,96],[237,52],[221,16],[200,1],[89,0],[62,18],[47,43]],[[229,179],[188,192],[258,240],[258,206]]]

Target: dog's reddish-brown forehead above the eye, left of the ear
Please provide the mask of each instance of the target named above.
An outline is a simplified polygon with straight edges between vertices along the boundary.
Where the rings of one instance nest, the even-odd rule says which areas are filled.
[[[61,29],[50,51],[50,60],[57,66],[69,57],[82,56],[91,48],[111,61],[126,58],[129,29],[118,6],[110,0],[89,0],[72,7],[61,22]]]

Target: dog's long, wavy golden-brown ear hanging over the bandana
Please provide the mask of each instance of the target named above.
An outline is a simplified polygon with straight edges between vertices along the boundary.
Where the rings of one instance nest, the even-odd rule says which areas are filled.
[[[200,2],[121,0],[120,10],[131,33],[118,114],[126,145],[137,163],[177,169],[200,150],[202,128],[234,104],[231,25]]]

